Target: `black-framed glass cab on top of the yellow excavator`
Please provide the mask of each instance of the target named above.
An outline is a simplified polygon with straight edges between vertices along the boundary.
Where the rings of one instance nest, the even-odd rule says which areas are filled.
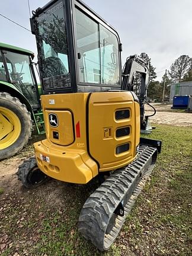
[[[44,94],[121,89],[113,27],[81,1],[51,1],[33,14]]]

